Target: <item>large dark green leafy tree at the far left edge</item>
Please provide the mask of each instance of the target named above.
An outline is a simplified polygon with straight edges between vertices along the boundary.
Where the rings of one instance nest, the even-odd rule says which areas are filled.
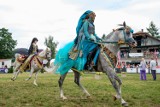
[[[17,41],[12,39],[12,33],[8,29],[0,29],[0,58],[12,58]]]

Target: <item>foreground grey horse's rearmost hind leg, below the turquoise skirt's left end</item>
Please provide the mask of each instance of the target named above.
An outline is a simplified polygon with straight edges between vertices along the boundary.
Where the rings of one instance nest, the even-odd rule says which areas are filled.
[[[67,75],[67,73],[65,73],[64,75],[61,75],[58,80],[58,84],[59,84],[59,88],[60,88],[60,98],[62,98],[63,100],[67,99],[67,97],[64,96],[63,88],[62,88],[63,81],[64,81],[66,75]]]

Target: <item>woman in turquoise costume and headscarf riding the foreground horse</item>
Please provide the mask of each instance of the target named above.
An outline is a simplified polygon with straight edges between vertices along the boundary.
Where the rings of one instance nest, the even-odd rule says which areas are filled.
[[[57,73],[65,74],[71,68],[92,70],[92,66],[96,65],[100,52],[97,43],[101,39],[95,34],[95,17],[95,13],[90,10],[82,14],[76,27],[76,38],[56,54],[54,65]]]

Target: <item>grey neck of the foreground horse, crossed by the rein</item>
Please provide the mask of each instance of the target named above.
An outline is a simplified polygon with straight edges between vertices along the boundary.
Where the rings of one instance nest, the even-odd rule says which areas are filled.
[[[109,42],[118,42],[119,38],[116,34],[117,32],[112,32],[110,33],[105,41],[109,41]],[[113,52],[115,55],[117,55],[118,51],[119,51],[119,45],[118,43],[106,43],[105,46],[111,51]]]

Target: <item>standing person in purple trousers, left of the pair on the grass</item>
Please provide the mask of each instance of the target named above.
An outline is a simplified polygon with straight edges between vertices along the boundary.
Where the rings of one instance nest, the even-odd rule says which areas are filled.
[[[144,58],[141,59],[140,63],[140,80],[146,80],[146,61]]]

